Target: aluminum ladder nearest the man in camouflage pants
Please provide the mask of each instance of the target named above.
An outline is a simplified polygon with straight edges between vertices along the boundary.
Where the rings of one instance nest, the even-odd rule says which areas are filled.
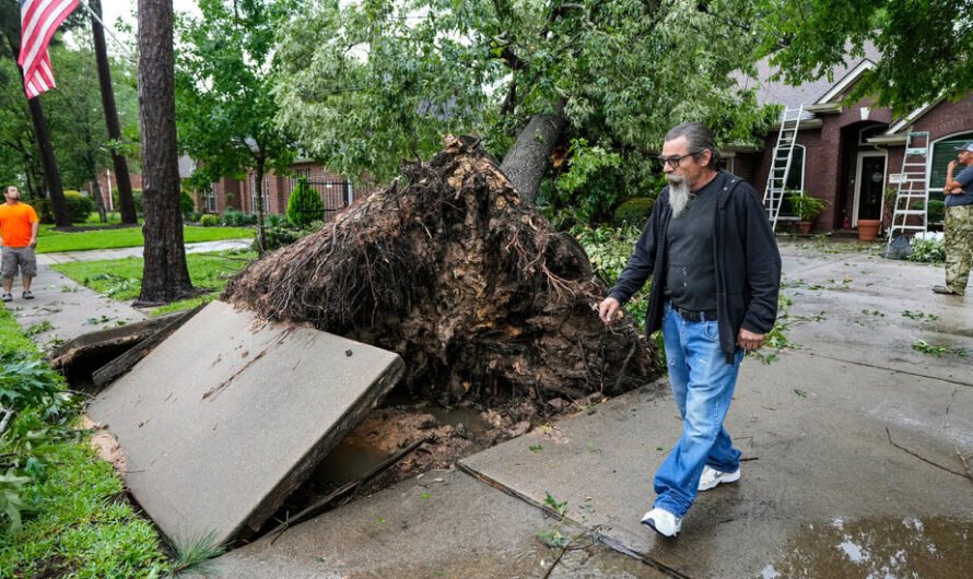
[[[926,187],[928,177],[929,133],[928,131],[910,131],[905,139],[902,155],[902,173],[895,204],[892,206],[892,226],[889,227],[889,243],[895,233],[926,232],[928,227],[929,189]],[[922,209],[916,204],[922,203]],[[918,217],[918,220],[910,220]],[[912,223],[910,223],[912,221]],[[919,223],[916,224],[915,221]]]

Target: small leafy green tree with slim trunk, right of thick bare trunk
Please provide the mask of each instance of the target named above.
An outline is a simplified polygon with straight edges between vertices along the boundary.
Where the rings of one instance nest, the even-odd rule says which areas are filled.
[[[201,17],[183,16],[176,61],[179,143],[200,163],[197,187],[255,173],[258,240],[262,185],[269,169],[286,170],[296,146],[276,117],[274,35],[295,5],[290,0],[202,0]]]

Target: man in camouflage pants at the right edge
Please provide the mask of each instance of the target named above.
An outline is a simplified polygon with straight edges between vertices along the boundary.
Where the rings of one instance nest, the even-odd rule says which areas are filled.
[[[946,285],[934,285],[937,294],[961,296],[973,265],[973,141],[957,149],[957,158],[946,167]],[[966,167],[953,178],[957,163]]]

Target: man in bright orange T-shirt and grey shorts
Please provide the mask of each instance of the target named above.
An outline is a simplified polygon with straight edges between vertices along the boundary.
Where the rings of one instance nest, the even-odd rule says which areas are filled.
[[[37,231],[40,220],[34,208],[21,203],[21,193],[16,187],[10,186],[3,190],[5,203],[0,205],[0,239],[3,241],[0,277],[3,277],[3,302],[13,299],[13,279],[17,270],[21,272],[21,281],[24,284],[24,299],[33,299],[31,282],[37,275],[37,258],[34,248],[37,247]]]

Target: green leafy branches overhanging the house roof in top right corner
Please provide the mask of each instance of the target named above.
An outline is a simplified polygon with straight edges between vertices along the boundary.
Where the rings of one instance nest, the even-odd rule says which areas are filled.
[[[790,84],[828,75],[871,44],[882,55],[853,98],[875,95],[896,114],[973,91],[973,2],[760,0],[762,54]]]

